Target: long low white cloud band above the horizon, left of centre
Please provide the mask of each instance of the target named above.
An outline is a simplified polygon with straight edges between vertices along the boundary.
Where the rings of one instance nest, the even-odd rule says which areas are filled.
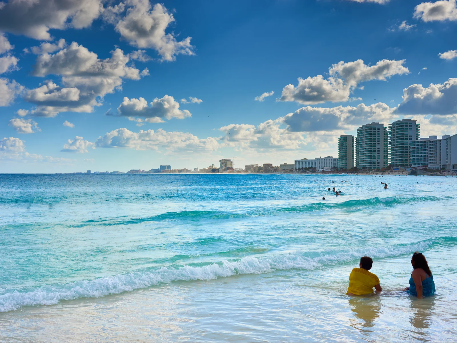
[[[218,141],[213,137],[198,139],[190,133],[167,132],[162,129],[140,130],[132,132],[128,129],[116,129],[107,132],[96,140],[96,146],[101,148],[130,148],[135,150],[159,150],[168,152],[199,153],[217,150]]]

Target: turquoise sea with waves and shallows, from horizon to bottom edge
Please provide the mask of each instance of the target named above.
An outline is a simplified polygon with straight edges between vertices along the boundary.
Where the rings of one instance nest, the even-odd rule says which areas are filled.
[[[0,175],[0,340],[455,341],[456,185]],[[423,300],[399,291],[415,251],[436,282]],[[351,298],[362,255],[384,291]]]

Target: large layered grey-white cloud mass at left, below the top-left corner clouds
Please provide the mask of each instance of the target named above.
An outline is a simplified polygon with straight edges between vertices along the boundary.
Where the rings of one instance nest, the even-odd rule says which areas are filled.
[[[99,59],[78,43],[71,43],[56,54],[44,53],[37,57],[32,75],[61,75],[63,86],[51,81],[27,91],[27,102],[37,105],[32,114],[54,117],[59,112],[92,112],[101,105],[97,97],[113,93],[122,86],[122,78],[139,80],[145,73],[127,66],[128,55],[121,49],[112,51],[112,57]],[[144,71],[144,70],[143,70]],[[147,70],[146,70],[147,71]],[[148,74],[148,73],[146,73]]]

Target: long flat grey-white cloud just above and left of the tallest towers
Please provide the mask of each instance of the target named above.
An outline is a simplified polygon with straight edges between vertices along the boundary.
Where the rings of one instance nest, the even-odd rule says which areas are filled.
[[[302,107],[282,120],[293,132],[352,130],[367,122],[388,122],[394,117],[393,109],[378,102],[357,107]]]

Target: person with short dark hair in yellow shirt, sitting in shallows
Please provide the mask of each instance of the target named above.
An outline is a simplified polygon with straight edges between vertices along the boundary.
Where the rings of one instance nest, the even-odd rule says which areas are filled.
[[[346,292],[347,295],[370,294],[373,293],[373,287],[376,289],[376,292],[381,292],[383,290],[379,284],[379,279],[376,274],[369,272],[372,265],[373,260],[371,257],[364,256],[360,258],[360,268],[352,269],[351,275],[349,275],[349,288]]]

